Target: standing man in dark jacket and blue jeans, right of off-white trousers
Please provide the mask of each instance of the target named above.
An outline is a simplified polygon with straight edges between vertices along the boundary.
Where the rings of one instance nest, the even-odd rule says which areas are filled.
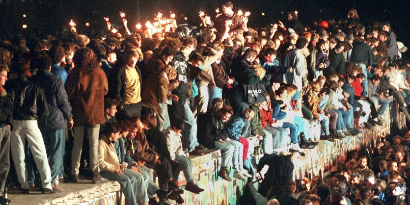
[[[63,81],[51,73],[51,58],[44,55],[38,62],[39,68],[33,82],[44,90],[50,110],[50,115],[41,119],[39,126],[49,157],[53,189],[61,190],[55,179],[64,174],[65,130],[67,126],[68,129],[73,128],[74,121]]]

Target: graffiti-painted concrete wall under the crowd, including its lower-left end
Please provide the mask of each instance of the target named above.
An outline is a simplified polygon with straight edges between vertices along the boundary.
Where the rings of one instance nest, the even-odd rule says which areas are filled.
[[[312,177],[315,175],[322,175],[337,161],[344,161],[346,154],[350,150],[358,150],[365,146],[371,147],[380,140],[380,136],[394,135],[406,128],[406,119],[402,113],[398,112],[398,108],[395,102],[390,99],[389,107],[385,112],[383,126],[376,126],[373,129],[363,130],[357,136],[346,137],[343,139],[336,139],[335,142],[320,141],[320,144],[311,150],[305,150],[306,156],[300,155],[293,157],[294,179],[301,179],[302,177]],[[317,120],[310,122],[312,138],[319,141],[320,127]],[[262,152],[259,150],[259,141],[255,138],[248,138],[249,148],[253,149],[253,154],[249,157],[250,163],[254,167],[262,157]],[[251,149],[250,149],[251,150]],[[192,172],[194,180],[197,185],[203,189],[204,192],[200,194],[193,194],[185,191],[183,198],[186,205],[242,205],[249,204],[249,197],[245,193],[246,181],[233,178],[231,182],[226,181],[218,177],[218,171],[220,169],[221,153],[219,150],[208,150],[207,154],[202,156],[191,156],[192,159]],[[233,170],[230,170],[230,176],[233,175]],[[264,174],[262,172],[262,174]],[[257,179],[253,178],[254,185],[257,186]],[[121,192],[117,192],[115,196],[114,189],[107,192],[106,188],[119,187],[116,182],[109,182],[96,186],[92,190],[82,190],[79,192],[73,192],[69,195],[47,202],[47,204],[58,204],[59,202],[69,202],[69,204],[76,204],[74,199],[79,200],[79,196],[82,197],[80,204],[87,205],[121,205],[124,203]],[[181,172],[178,179],[178,184],[185,188],[185,177]],[[117,188],[118,188],[117,187]],[[119,189],[119,188],[118,188]],[[95,190],[106,190],[100,195],[96,194]],[[81,194],[80,194],[81,193]],[[78,195],[78,196],[77,196]],[[68,200],[68,201],[67,201]],[[122,203],[121,203],[122,201]]]

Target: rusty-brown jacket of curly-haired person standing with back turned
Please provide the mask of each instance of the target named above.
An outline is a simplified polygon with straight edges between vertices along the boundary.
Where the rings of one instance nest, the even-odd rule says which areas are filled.
[[[104,124],[104,96],[108,92],[106,74],[100,68],[74,68],[65,83],[73,108],[75,125]]]

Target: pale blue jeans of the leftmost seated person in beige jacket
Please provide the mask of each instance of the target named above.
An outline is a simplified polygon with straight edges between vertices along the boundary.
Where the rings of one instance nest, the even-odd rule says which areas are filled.
[[[147,184],[142,175],[131,169],[124,169],[122,172],[123,175],[103,171],[101,176],[112,181],[118,181],[128,204],[142,205],[148,203]]]

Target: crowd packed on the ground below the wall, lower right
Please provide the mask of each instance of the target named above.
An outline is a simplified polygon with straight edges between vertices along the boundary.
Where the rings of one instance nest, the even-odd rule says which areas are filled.
[[[382,138],[374,148],[349,151],[346,160],[332,166],[323,177],[292,180],[291,174],[283,171],[275,173],[280,180],[265,175],[268,186],[262,182],[256,190],[248,182],[248,187],[256,205],[409,205],[409,140],[410,131],[404,137]],[[267,157],[279,157],[271,155]],[[270,169],[278,166],[271,163],[266,163]],[[293,169],[286,164],[279,166]]]

